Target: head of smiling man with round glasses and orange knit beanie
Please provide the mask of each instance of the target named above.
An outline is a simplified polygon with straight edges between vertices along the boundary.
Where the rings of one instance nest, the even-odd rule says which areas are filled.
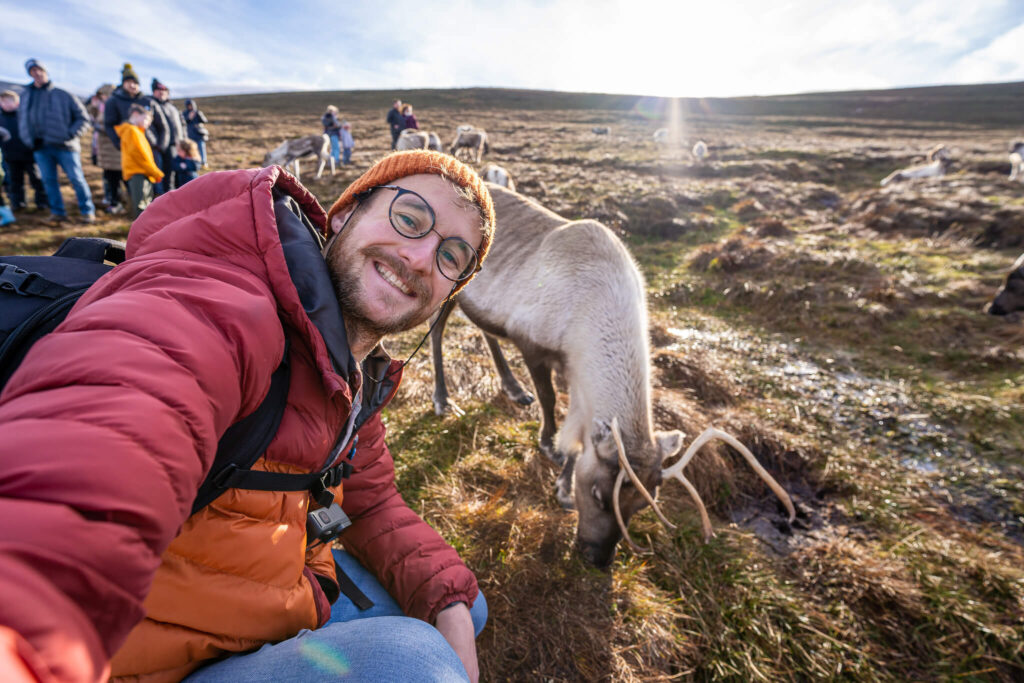
[[[495,209],[469,166],[437,152],[399,152],[342,193],[327,231],[324,254],[349,309],[352,346],[373,348],[384,335],[427,319],[469,283],[490,248]]]

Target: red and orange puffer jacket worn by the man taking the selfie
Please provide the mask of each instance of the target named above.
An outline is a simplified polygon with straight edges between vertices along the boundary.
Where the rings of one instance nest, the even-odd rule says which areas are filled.
[[[311,234],[279,226],[282,196],[323,228],[279,168],[158,199],[132,225],[129,260],[0,395],[0,669],[14,651],[40,680],[94,681],[113,656],[115,676],[178,680],[328,617],[334,570],[327,548],[306,556],[305,493],[232,489],[188,517],[218,438],[266,393],[284,334],[289,405],[256,468],[323,468],[351,412],[359,376],[340,313],[324,305]],[[472,604],[472,573],[395,489],[379,414],[359,415],[346,548],[412,616]]]

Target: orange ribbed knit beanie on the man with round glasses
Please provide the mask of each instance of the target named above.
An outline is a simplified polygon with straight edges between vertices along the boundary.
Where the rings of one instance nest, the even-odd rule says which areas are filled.
[[[476,171],[454,157],[439,152],[426,150],[395,152],[374,164],[369,171],[356,178],[355,182],[350,184],[331,207],[327,214],[328,233],[330,233],[331,219],[334,218],[334,215],[355,202],[356,195],[359,193],[419,173],[439,175],[461,187],[465,187],[473,196],[473,204],[479,209],[483,221],[480,226],[483,240],[480,242],[478,251],[479,263],[482,264],[487,250],[490,249],[490,242],[495,238],[495,205],[490,201],[490,193],[487,191],[486,185],[480,180]],[[458,289],[462,289],[465,284],[465,282],[460,283]]]

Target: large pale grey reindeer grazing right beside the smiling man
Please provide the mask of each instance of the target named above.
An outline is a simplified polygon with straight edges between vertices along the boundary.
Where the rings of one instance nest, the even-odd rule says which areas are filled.
[[[653,430],[644,281],[626,247],[597,221],[567,221],[504,187],[488,188],[499,229],[483,269],[456,301],[484,332],[506,393],[528,404],[534,398],[512,376],[496,337],[510,339],[522,352],[541,401],[540,447],[562,465],[556,496],[579,511],[577,540],[584,556],[606,566],[620,539],[629,538],[630,517],[653,502],[648,490],[656,492],[665,476],[684,483],[710,535],[703,505],[682,476],[685,463],[662,469],[682,449],[683,434]],[[441,338],[450,313],[441,313],[430,335],[438,415],[459,412],[444,384]],[[569,393],[557,440],[554,370],[567,378]],[[690,451],[718,436],[701,436]],[[627,473],[634,485],[623,489]],[[761,473],[781,492],[792,519],[788,497]]]

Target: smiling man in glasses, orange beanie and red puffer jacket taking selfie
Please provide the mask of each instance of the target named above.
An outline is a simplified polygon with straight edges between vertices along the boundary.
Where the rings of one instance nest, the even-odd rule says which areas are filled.
[[[404,364],[381,342],[486,267],[494,234],[479,176],[428,151],[378,161],[329,211],[280,167],[151,205],[0,394],[5,680],[477,680],[485,602],[395,487],[380,411]],[[190,514],[285,353],[254,469],[344,463],[325,484],[344,551],[310,544],[330,501],[306,490],[230,488]]]

